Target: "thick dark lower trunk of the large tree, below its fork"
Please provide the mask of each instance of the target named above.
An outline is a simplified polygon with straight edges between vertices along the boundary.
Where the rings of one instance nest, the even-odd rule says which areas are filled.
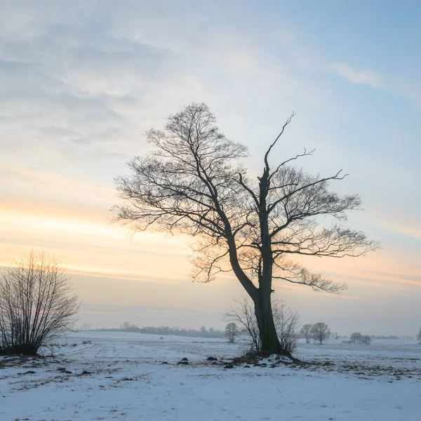
[[[276,333],[270,293],[265,296],[260,290],[258,296],[254,299],[254,305],[260,333],[260,352],[265,355],[286,355],[286,352],[281,347],[281,342],[279,342],[278,334]]]

